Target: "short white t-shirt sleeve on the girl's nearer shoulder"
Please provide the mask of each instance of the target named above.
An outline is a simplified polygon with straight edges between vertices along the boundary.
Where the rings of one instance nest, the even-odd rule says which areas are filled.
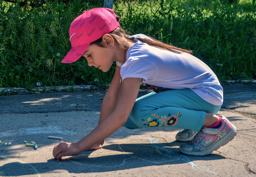
[[[153,79],[157,75],[154,64],[139,58],[130,58],[121,67],[122,80],[128,77],[142,78],[143,81]]]

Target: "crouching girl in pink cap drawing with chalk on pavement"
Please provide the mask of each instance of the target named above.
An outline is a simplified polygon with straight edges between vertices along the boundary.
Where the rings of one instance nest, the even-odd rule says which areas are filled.
[[[191,51],[147,37],[128,36],[119,18],[108,8],[84,11],[70,26],[72,49],[62,60],[72,63],[84,56],[89,66],[116,71],[102,101],[98,126],[77,143],[61,142],[53,156],[78,155],[100,149],[104,139],[124,126],[129,129],[178,127],[177,140],[188,142],[180,152],[208,155],[236,135],[236,127],[216,116],[223,89],[214,72]],[[140,84],[154,92],[138,99]]]

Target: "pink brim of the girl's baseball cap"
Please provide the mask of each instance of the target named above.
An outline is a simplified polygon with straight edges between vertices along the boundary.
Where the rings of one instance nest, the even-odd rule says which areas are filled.
[[[84,54],[87,47],[90,45],[85,44],[81,45],[79,47],[72,47],[72,49],[68,52],[68,54],[64,57],[64,59],[61,61],[62,63],[73,63],[76,60],[80,59],[80,57]]]

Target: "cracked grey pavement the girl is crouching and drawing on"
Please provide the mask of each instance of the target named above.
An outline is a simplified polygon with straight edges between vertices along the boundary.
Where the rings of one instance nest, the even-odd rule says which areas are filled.
[[[102,149],[57,161],[52,149],[61,140],[47,137],[77,142],[90,133],[106,91],[0,96],[0,176],[256,176],[256,85],[223,87],[218,114],[238,133],[204,157],[180,154],[182,143],[175,141],[180,129],[120,128]],[[24,140],[36,142],[38,149],[26,147]]]

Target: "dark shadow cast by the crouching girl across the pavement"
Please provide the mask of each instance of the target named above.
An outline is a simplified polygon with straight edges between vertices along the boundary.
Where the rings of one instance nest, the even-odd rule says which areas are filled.
[[[15,161],[6,163],[0,167],[0,175],[22,176],[49,173],[55,170],[58,172],[65,170],[69,173],[94,173],[180,163],[188,163],[192,168],[205,170],[205,167],[194,164],[194,161],[224,159],[216,154],[204,157],[182,155],[178,148],[171,148],[176,145],[176,141],[163,144],[112,144],[96,151],[84,151],[80,155],[61,161],[49,159],[46,163]]]

